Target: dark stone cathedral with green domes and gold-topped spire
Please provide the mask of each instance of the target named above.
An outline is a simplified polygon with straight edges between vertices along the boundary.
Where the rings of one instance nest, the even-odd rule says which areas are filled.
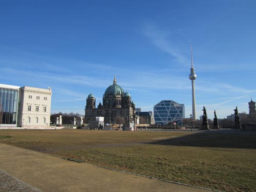
[[[96,117],[104,117],[104,123],[108,124],[129,124],[135,122],[135,104],[131,95],[116,83],[109,86],[104,95],[103,102],[95,107],[95,97],[91,93],[86,99],[85,122],[95,121]]]

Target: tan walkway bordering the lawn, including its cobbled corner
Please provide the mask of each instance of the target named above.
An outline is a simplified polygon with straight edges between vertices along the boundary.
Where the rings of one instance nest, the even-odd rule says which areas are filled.
[[[6,144],[0,144],[0,181],[0,191],[17,192],[36,190],[209,192],[205,189],[148,179],[87,163],[63,160]]]

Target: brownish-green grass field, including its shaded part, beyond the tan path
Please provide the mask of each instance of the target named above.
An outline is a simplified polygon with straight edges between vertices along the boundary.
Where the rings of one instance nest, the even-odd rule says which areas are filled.
[[[256,191],[256,133],[0,130],[0,142],[169,181]]]

